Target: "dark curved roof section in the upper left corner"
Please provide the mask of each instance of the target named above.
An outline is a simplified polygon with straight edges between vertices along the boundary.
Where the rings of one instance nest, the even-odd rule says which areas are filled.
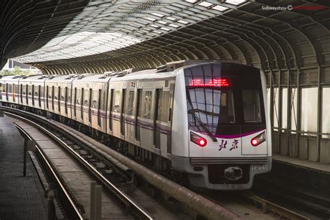
[[[0,69],[8,58],[39,49],[78,15],[87,0],[0,1]]]

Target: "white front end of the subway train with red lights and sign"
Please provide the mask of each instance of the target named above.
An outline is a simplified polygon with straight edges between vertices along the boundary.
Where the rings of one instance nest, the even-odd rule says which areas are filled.
[[[188,150],[176,154],[181,157],[174,150],[173,168],[188,173],[196,187],[251,188],[254,175],[272,166],[264,75],[257,68],[221,62],[191,65],[179,75],[175,93],[182,91],[185,97],[175,97],[173,114],[182,111],[187,120],[173,125],[173,143],[179,143],[180,130],[187,126],[183,145]],[[182,157],[184,152],[189,156]]]

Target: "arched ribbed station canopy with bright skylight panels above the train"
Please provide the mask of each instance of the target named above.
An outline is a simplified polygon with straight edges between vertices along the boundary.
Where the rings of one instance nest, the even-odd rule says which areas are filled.
[[[15,60],[47,74],[182,59],[235,59],[278,70],[329,65],[329,46],[326,1],[90,1],[56,38]]]

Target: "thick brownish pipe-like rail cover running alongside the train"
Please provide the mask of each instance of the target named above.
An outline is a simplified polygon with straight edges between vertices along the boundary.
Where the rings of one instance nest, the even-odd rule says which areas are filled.
[[[0,106],[0,109],[3,111],[12,111],[15,113],[22,113],[26,116],[30,116],[31,118],[35,118],[36,120],[40,121],[41,123],[45,123],[45,118],[42,116],[38,116],[34,113],[29,113],[26,111],[22,111],[19,109],[14,109],[10,107],[3,107]],[[179,201],[185,207],[193,210],[198,214],[198,216],[203,217],[205,219],[242,219],[239,215],[231,212],[230,210],[222,207],[219,203],[211,201],[210,199],[205,198],[200,194],[197,194],[194,191],[187,189],[186,187],[182,187],[180,184],[177,184],[164,176],[155,173],[154,171],[146,168],[142,164],[134,162],[134,160],[129,159],[125,155],[120,154],[116,150],[113,150],[104,144],[95,141],[89,136],[81,134],[80,132],[67,127],[66,125],[58,125],[61,123],[56,123],[55,121],[48,121],[47,123],[57,129],[58,131],[65,132],[68,134],[72,139],[78,139],[84,143],[84,145],[88,146],[89,148],[97,148],[100,153],[104,154],[105,157],[111,156],[114,159],[120,161],[125,166],[132,169],[136,175],[139,175],[143,180],[151,184],[153,187],[156,187],[162,194],[166,194],[171,198],[174,198],[176,201]]]

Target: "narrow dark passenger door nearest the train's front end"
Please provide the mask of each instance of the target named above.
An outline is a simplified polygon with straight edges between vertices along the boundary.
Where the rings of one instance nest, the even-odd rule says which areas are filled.
[[[160,150],[161,134],[161,114],[162,114],[162,88],[156,89],[155,117],[154,117],[154,135],[153,142],[156,149]]]

